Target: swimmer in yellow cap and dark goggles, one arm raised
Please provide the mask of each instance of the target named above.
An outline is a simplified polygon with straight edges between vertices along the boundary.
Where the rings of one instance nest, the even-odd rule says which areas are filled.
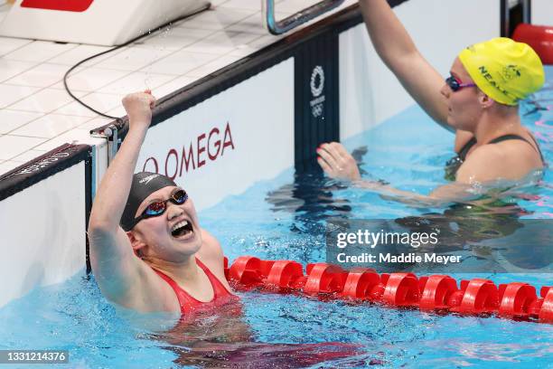
[[[386,0],[360,0],[370,39],[408,93],[442,127],[455,133],[457,156],[446,166],[454,184],[429,195],[361,181],[355,159],[342,144],[325,143],[317,161],[333,177],[389,194],[407,203],[446,203],[473,197],[473,185],[517,181],[545,166],[538,143],[520,124],[519,101],[536,92],[545,75],[525,43],[494,38],[459,52],[444,80],[418,52]]]

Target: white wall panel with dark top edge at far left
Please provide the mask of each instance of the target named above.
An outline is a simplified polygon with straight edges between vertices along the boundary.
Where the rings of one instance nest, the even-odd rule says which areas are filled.
[[[85,267],[89,150],[66,145],[0,177],[0,307]]]

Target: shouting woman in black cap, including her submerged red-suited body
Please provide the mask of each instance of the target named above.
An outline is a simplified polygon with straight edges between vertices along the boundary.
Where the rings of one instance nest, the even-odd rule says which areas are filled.
[[[171,343],[179,364],[292,368],[355,360],[360,345],[251,342],[225,279],[219,241],[200,227],[192,199],[164,175],[133,175],[155,98],[149,91],[134,93],[123,105],[127,137],[102,179],[89,221],[90,262],[104,296],[141,313],[179,317],[173,329],[156,335]]]

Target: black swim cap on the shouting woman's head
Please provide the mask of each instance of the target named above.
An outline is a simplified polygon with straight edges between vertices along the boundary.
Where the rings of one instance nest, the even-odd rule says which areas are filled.
[[[121,228],[126,232],[135,226],[135,215],[140,204],[150,194],[167,186],[176,186],[173,180],[165,175],[158,175],[151,172],[140,172],[133,175],[130,194],[128,194],[127,204],[121,216]]]

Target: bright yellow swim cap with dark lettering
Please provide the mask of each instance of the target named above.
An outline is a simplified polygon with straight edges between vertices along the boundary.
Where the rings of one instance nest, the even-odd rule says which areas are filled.
[[[545,81],[538,54],[505,37],[474,43],[459,52],[459,60],[480,90],[505,105],[517,105]]]

